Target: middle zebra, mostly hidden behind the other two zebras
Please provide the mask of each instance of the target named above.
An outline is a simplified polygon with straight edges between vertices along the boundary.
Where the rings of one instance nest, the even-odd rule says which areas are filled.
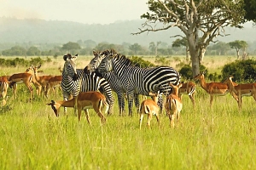
[[[90,64],[84,68],[84,72],[86,74],[90,73],[90,71],[96,71],[98,65],[100,65],[102,59],[104,59],[107,55],[101,54],[99,51],[93,51],[94,58],[90,60]],[[115,92],[118,96],[118,103],[119,103],[119,116],[123,115],[125,110],[125,97],[126,89],[122,86],[122,83],[118,79],[118,77],[114,74],[113,71],[111,72],[102,72],[102,77],[104,77],[112,88],[113,92]],[[139,109],[139,99],[138,94],[135,94],[135,105],[137,106],[137,111]]]

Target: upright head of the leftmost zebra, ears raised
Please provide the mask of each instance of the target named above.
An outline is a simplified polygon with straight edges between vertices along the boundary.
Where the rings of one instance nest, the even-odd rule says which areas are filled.
[[[76,64],[75,60],[77,59],[78,54],[75,56],[72,56],[71,54],[67,54],[63,56],[63,59],[65,60],[64,68],[62,74],[72,77],[73,81],[76,81],[79,79],[79,76],[77,74]]]

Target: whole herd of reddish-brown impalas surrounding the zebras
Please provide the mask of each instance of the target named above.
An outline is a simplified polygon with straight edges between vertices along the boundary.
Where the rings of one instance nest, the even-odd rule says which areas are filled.
[[[61,87],[62,76],[39,76],[38,69],[41,65],[30,66],[25,72],[15,73],[11,76],[0,77],[0,88],[1,94],[0,98],[3,99],[3,105],[6,105],[8,88],[13,88],[13,98],[17,98],[17,84],[24,83],[26,88],[30,92],[30,101],[33,99],[33,88],[32,84],[37,89],[37,95],[43,95],[45,98],[49,98],[49,90],[55,93],[55,88]],[[62,71],[59,68],[59,71]],[[194,77],[194,80],[199,80],[201,88],[203,88],[207,94],[210,94],[210,106],[212,106],[214,95],[226,95],[230,93],[234,99],[236,99],[238,108],[241,110],[242,97],[243,96],[253,96],[256,101],[256,83],[247,84],[237,84],[232,81],[233,77],[228,77],[224,82],[206,82],[205,71],[201,72]],[[42,73],[40,73],[42,74]],[[194,82],[180,82],[177,86],[170,83],[172,87],[172,94],[166,95],[165,102],[163,103],[166,109],[166,115],[169,116],[170,126],[175,127],[176,122],[178,122],[180,117],[180,112],[182,111],[182,95],[188,94],[192,105],[195,107],[195,83]],[[158,105],[158,94],[149,93],[151,99],[143,99],[141,103],[139,113],[139,128],[142,128],[143,116],[148,115],[147,126],[150,127],[150,122],[152,116],[156,116],[158,124],[160,124],[160,107]],[[55,112],[55,116],[59,116],[60,107],[73,107],[74,112],[78,111],[79,122],[81,119],[81,111],[85,112],[87,122],[90,124],[90,116],[88,109],[93,109],[96,114],[101,118],[101,125],[106,122],[106,111],[108,111],[108,103],[106,102],[106,97],[97,91],[90,92],[80,92],[79,95],[70,100],[51,100],[50,105],[52,110]],[[107,108],[105,112],[102,113],[103,108]]]

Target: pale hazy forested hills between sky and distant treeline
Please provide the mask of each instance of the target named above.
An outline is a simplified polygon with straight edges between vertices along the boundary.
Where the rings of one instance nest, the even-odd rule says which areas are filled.
[[[117,21],[109,25],[85,25],[81,23],[60,20],[17,20],[13,18],[0,18],[0,43],[65,43],[79,40],[93,40],[95,42],[110,42],[115,44],[139,43],[148,46],[149,42],[172,43],[180,31],[177,28],[168,31],[150,32],[132,36],[138,31],[143,20]],[[247,26],[242,30],[226,29],[228,37],[218,37],[219,41],[230,42],[244,40],[253,42],[256,29]]]

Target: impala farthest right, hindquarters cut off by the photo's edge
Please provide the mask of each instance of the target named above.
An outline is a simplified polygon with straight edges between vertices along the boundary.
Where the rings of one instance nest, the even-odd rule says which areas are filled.
[[[224,83],[228,84],[230,94],[236,99],[239,109],[241,109],[243,96],[253,96],[256,101],[256,83],[236,84],[232,81],[232,78],[227,78]]]

